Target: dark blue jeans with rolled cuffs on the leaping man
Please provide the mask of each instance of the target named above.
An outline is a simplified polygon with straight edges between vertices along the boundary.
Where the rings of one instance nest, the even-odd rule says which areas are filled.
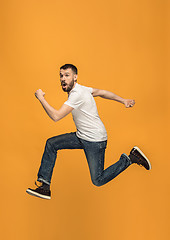
[[[130,158],[123,153],[118,162],[104,170],[106,146],[107,141],[89,142],[78,138],[75,132],[49,138],[42,156],[37,181],[50,185],[58,150],[83,149],[87,158],[92,183],[96,186],[104,185],[131,165]]]

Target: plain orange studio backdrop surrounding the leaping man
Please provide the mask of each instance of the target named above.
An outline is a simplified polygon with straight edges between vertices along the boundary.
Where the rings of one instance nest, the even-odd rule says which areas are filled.
[[[168,0],[5,0],[1,18],[1,239],[168,240]],[[95,187],[81,150],[60,151],[50,201],[26,194],[47,138],[75,131],[71,114],[53,122],[34,93],[58,109],[67,99],[59,68],[82,85],[136,105],[96,98],[108,132],[105,166],[137,145],[152,170],[133,165]]]

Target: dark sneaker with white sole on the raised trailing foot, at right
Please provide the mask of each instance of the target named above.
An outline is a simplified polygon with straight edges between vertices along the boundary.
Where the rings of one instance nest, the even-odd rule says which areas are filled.
[[[144,155],[144,153],[138,147],[135,146],[130,151],[129,157],[132,163],[137,163],[138,165],[141,165],[144,168],[146,168],[146,170],[151,169],[151,163],[149,159]]]

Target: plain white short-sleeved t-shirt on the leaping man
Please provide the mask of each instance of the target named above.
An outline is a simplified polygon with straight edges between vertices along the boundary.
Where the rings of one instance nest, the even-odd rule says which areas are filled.
[[[77,128],[77,137],[91,142],[107,140],[106,129],[99,117],[93,89],[76,83],[64,103],[72,108],[72,116]]]

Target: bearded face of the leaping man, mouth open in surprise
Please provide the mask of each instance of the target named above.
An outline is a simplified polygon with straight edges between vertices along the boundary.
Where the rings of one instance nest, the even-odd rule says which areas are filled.
[[[60,82],[64,92],[70,92],[75,86],[77,80],[77,75],[74,74],[71,68],[60,69]]]

